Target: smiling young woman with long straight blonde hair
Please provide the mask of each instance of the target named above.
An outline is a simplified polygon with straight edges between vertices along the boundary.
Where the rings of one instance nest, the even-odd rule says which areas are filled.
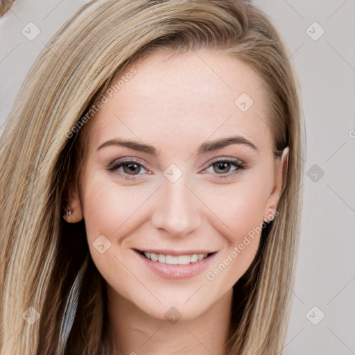
[[[281,354],[299,101],[250,3],[83,6],[2,137],[1,352]]]

